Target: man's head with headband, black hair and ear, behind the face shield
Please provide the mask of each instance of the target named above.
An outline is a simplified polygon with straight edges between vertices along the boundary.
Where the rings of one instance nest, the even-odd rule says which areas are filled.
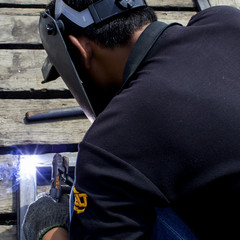
[[[108,11],[110,9],[110,13],[111,11],[118,11],[120,14],[97,24],[93,22],[87,27],[80,27],[79,25],[83,22],[89,23],[89,19],[91,22],[91,16],[87,14],[90,14],[89,9],[93,3],[105,4],[101,8],[103,15],[106,14],[105,7],[108,8]],[[118,6],[119,3],[133,4],[136,7],[130,6],[128,8],[127,5],[127,8],[122,11],[121,6]],[[109,5],[111,7],[108,7]],[[156,21],[157,17],[154,11],[146,6],[144,0],[63,0],[63,2],[62,0],[56,0],[56,3],[54,0],[48,5],[47,9],[55,20],[63,22],[64,29],[61,34],[78,75],[83,81],[82,85],[87,98],[90,100],[95,114],[98,115],[120,90],[124,66],[138,36],[148,24]],[[69,12],[63,14],[62,10],[63,12],[64,10]],[[79,17],[79,13],[80,15],[84,14]],[[78,16],[77,20],[76,16]],[[79,18],[81,23],[78,21]],[[47,42],[46,45],[48,45]],[[52,55],[53,48],[55,48],[54,41],[51,47],[48,47],[48,55],[49,53]],[[58,63],[62,60],[56,59],[54,54],[52,60],[53,58],[55,58],[55,63],[52,63],[60,73],[63,65]],[[50,59],[50,61],[52,60]],[[59,67],[56,67],[56,65],[59,65]],[[60,73],[60,75],[63,77],[63,73]],[[73,86],[73,80],[67,76],[69,74],[66,74],[63,80],[67,86],[69,86],[68,83]],[[77,90],[73,87],[72,89],[69,87],[69,89],[72,93],[74,92],[73,95],[77,99],[79,95]],[[81,90],[83,91],[81,94],[86,95],[84,90]],[[78,102],[82,107],[80,101]],[[86,109],[88,111],[88,107]]]

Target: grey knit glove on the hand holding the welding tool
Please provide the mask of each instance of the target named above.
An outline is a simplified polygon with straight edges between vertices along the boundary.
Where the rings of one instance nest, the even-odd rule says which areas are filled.
[[[48,194],[42,194],[30,204],[23,221],[23,232],[26,240],[40,240],[49,230],[55,227],[69,226],[69,197],[64,194],[56,202]]]

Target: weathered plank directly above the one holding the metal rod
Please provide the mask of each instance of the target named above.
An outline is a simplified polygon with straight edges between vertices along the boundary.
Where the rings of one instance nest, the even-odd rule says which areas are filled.
[[[67,90],[62,79],[41,84],[45,50],[0,50],[0,91]]]

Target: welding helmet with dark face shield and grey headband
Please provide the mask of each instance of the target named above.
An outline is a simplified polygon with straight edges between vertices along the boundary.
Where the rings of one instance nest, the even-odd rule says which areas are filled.
[[[97,89],[89,81],[84,81],[87,78],[84,67],[79,69],[75,66],[76,51],[71,50],[66,37],[69,23],[87,28],[108,23],[115,16],[145,6],[145,0],[98,0],[79,12],[63,0],[56,0],[54,16],[47,10],[40,14],[39,33],[48,55],[42,67],[43,83],[61,76],[85,115],[93,122],[103,109],[98,107],[99,99],[94,97],[98,94]]]

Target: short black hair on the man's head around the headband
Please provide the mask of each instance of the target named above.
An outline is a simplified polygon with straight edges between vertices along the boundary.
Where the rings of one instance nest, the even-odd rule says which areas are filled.
[[[64,0],[64,2],[77,11],[86,9],[91,3],[97,0]],[[48,8],[53,14],[54,2],[50,3]],[[87,28],[81,28],[70,22],[64,16],[61,17],[65,26],[66,33],[74,36],[84,35],[95,43],[113,48],[127,44],[134,31],[141,29],[147,23],[157,20],[156,14],[150,7],[135,9],[123,15],[113,18],[110,22],[101,25],[90,25]]]

